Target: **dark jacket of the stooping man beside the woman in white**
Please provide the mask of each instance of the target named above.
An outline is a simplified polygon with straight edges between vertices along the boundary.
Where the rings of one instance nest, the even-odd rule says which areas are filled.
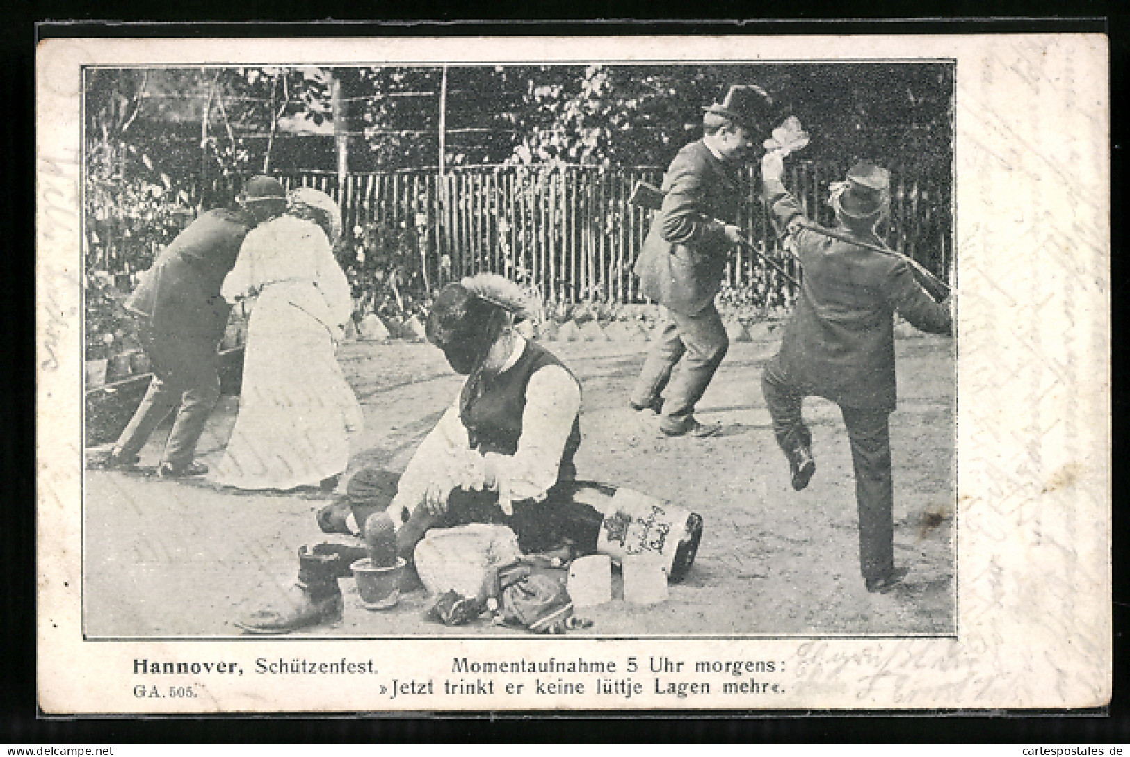
[[[219,294],[220,286],[250,228],[236,211],[201,215],[157,256],[125,307],[145,317],[155,332],[218,342],[232,310]]]

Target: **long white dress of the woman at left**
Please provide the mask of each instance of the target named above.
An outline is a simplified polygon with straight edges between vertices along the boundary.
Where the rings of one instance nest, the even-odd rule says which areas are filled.
[[[240,414],[212,480],[286,490],[340,475],[362,412],[337,360],[353,299],[325,233],[293,216],[260,225],[244,240],[221,294],[233,303],[258,298]]]

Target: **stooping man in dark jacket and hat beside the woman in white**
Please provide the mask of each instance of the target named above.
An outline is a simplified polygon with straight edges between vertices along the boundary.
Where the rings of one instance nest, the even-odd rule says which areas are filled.
[[[235,266],[243,237],[257,224],[286,208],[277,180],[247,181],[243,209],[202,214],[160,253],[125,303],[141,346],[153,365],[153,381],[141,404],[106,460],[108,468],[133,468],[146,441],[176,410],[158,473],[202,476],[197,442],[219,399],[216,348],[232,306],[220,296],[224,277]]]

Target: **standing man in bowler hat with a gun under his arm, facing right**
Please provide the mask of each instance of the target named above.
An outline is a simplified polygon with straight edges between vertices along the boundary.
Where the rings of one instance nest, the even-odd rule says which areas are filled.
[[[636,261],[641,292],[668,319],[629,403],[661,412],[660,429],[669,436],[705,437],[721,429],[698,423],[694,409],[729,347],[714,295],[727,255],[742,238],[732,225],[742,194],[738,172],[768,131],[771,106],[760,87],[736,85],[721,104],[705,108],[703,138],[679,150],[663,176],[663,207]]]

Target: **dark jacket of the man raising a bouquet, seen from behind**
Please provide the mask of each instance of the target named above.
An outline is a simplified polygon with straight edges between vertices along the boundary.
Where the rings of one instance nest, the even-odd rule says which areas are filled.
[[[780,182],[765,197],[788,228],[803,216]],[[873,233],[836,229],[860,242],[883,242]],[[803,267],[797,308],[785,328],[779,365],[809,393],[850,408],[895,409],[894,317],[897,312],[929,333],[953,330],[949,308],[919,285],[906,261],[794,227]]]

